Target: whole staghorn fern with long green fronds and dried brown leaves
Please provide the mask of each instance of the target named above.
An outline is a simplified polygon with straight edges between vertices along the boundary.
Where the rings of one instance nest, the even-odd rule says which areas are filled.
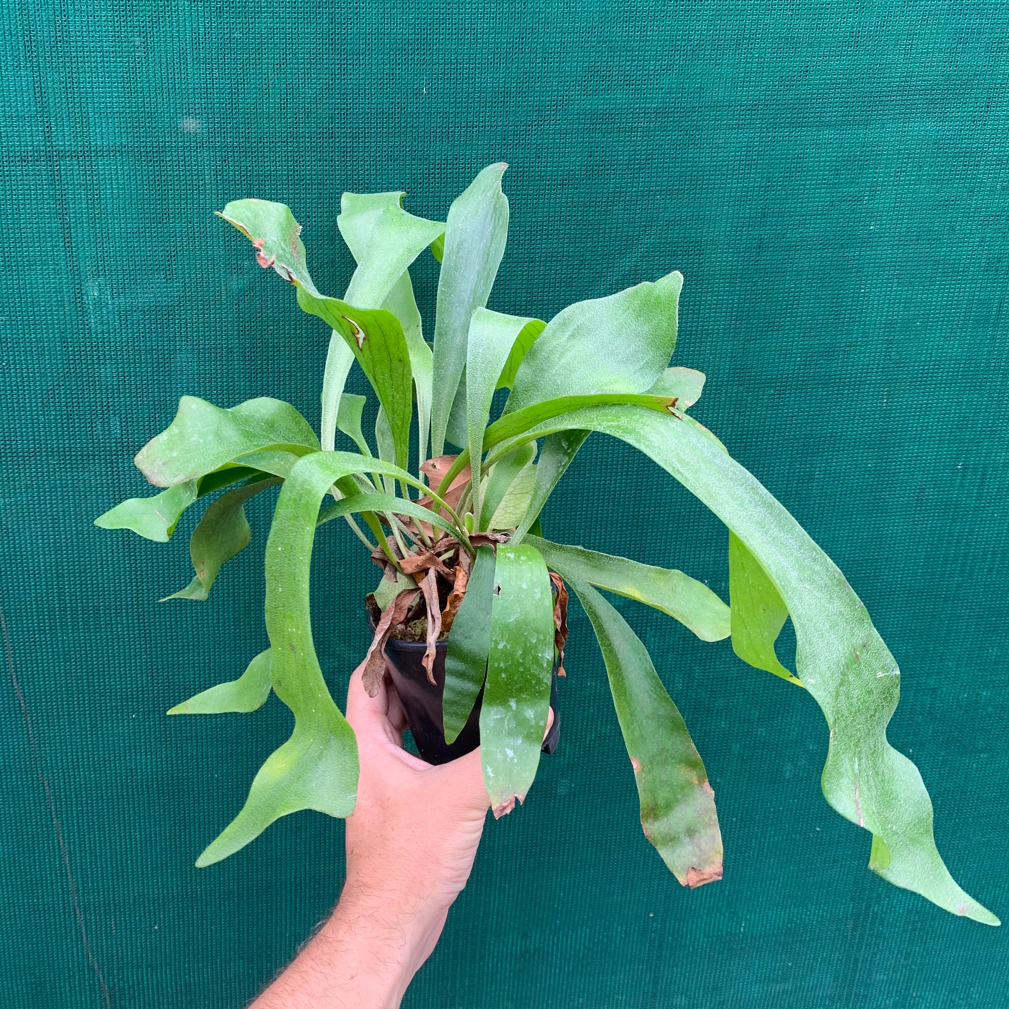
[[[870,868],[955,914],[998,924],[946,871],[920,775],[887,742],[899,672],[865,606],[788,512],[686,413],[704,376],[668,367],[681,275],[571,305],[549,324],[485,308],[508,231],[504,169],[484,169],[445,223],[407,213],[402,193],[344,194],[338,224],[357,267],[343,299],[316,289],[286,206],[239,200],[220,215],[332,336],[319,438],[277,400],[222,410],[185,397],[172,425],[136,456],[165,489],[97,520],[165,542],[185,509],[223,490],[192,534],[196,576],[170,596],[206,599],[221,565],[249,542],[244,502],[282,484],[265,554],[270,647],[239,679],[170,713],[252,711],[273,690],[295,728],[197,865],[226,858],[287,813],[346,816],[354,807],[354,734],[327,689],[309,616],[316,529],[344,518],[383,568],[368,600],[376,628],[366,688],[373,692],[383,675],[389,635],[423,636],[429,675],[447,635],[445,739],[458,736],[482,690],[482,764],[495,815],[525,797],[536,774],[566,635],[566,582],[602,650],[647,837],[681,883],[721,877],[703,763],[644,645],[601,588],[661,609],[704,641],[731,636],[740,658],[808,690],[829,726],[823,793],[871,831]],[[409,272],[429,247],[441,262],[433,348]],[[355,360],[378,400],[374,453],[361,430],[364,398],[344,393]],[[501,388],[507,404],[489,423]],[[337,430],[358,451],[335,451]],[[680,571],[543,538],[540,512],[592,432],[644,452],[725,524],[731,606]],[[446,455],[446,443],[459,454]],[[774,647],[789,615],[795,674]]]

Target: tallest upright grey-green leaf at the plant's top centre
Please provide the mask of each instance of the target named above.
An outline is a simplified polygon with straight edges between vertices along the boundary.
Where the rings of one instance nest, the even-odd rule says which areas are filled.
[[[466,336],[473,312],[487,304],[508,240],[508,198],[500,161],[485,167],[448,212],[435,322],[431,451],[445,450],[445,432],[466,364]],[[499,372],[498,372],[499,373]]]

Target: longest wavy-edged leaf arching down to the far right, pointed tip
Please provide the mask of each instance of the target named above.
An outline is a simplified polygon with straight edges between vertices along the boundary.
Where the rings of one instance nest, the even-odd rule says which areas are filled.
[[[921,775],[887,742],[900,672],[833,562],[751,473],[692,425],[622,406],[577,411],[563,423],[644,452],[760,561],[795,627],[796,673],[830,727],[823,794],[843,816],[873,833],[870,869],[954,914],[997,924],[949,875],[935,848]]]

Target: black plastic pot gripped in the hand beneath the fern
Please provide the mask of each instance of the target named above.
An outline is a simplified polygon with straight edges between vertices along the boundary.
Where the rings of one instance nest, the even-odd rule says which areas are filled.
[[[388,659],[393,686],[400,696],[407,724],[414,734],[417,749],[429,764],[447,764],[456,757],[462,757],[480,745],[480,705],[483,691],[476,697],[469,720],[455,743],[445,742],[442,724],[442,691],[445,689],[445,652],[448,643],[438,642],[435,646],[435,684],[428,681],[422,660],[427,646],[424,642],[397,641],[390,638],[385,644],[385,658]],[[557,749],[561,724],[557,713],[557,666],[550,684],[550,706],[554,709],[554,723],[543,741],[543,752],[552,754]]]

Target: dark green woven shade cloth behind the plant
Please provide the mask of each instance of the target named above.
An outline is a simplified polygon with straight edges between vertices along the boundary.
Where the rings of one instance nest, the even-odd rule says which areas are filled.
[[[549,319],[683,271],[675,363],[708,375],[695,416],[865,600],[904,672],[890,738],[939,849],[1009,915],[1004,4],[2,10],[0,1004],[100,1007],[97,965],[117,1009],[241,1006],[335,901],[343,827],[319,814],[192,865],[287,709],[163,715],[264,647],[270,501],[200,604],[156,601],[191,577],[194,517],[169,546],[91,521],[146,492],[132,455],[183,394],[276,396],[318,422],[325,327],[213,210],[289,203],[339,293],[341,191],[402,188],[440,217],[497,159],[512,230],[492,308]],[[416,272],[433,304],[429,256]],[[724,530],[616,443],[588,443],[545,528],[726,594]],[[341,701],[376,575],[362,553],[336,524],[319,537],[316,638]],[[819,793],[812,699],[620,604],[706,761],[725,879],[681,889],[642,836],[579,611],[560,750],[487,824],[405,1006],[1006,1005],[1004,928],[866,870],[870,836]]]

